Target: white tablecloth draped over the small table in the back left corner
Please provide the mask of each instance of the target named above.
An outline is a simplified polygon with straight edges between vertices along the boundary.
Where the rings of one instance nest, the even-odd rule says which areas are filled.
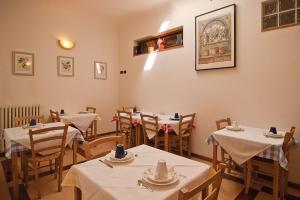
[[[82,132],[85,132],[94,120],[100,120],[98,114],[95,113],[70,114],[60,116],[60,118],[63,122],[72,123]]]

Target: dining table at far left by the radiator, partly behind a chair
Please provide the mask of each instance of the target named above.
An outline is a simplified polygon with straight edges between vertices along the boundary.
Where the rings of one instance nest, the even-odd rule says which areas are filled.
[[[50,128],[57,126],[64,126],[63,122],[39,124],[40,127],[34,127],[33,130],[39,128]],[[5,156],[7,159],[12,160],[11,171],[12,171],[12,182],[13,182],[13,198],[19,199],[19,169],[18,169],[18,153],[23,153],[31,149],[30,137],[29,137],[30,127],[14,127],[4,129],[3,138],[6,144]],[[56,132],[48,132],[47,136],[55,135]],[[46,137],[46,136],[45,136]],[[73,163],[77,163],[77,146],[78,142],[83,142],[84,138],[81,133],[73,128],[68,127],[66,145],[72,145],[73,147]]]

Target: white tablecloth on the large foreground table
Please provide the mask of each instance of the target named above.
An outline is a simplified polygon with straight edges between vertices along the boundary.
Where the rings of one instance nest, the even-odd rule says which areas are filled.
[[[178,191],[183,187],[193,187],[195,183],[204,181],[210,166],[161,151],[146,145],[129,149],[137,154],[133,162],[114,165],[109,168],[99,159],[91,160],[72,166],[66,175],[63,186],[77,186],[81,189],[83,199],[174,199],[178,198]],[[154,192],[137,186],[143,172],[155,166],[159,159],[164,159],[167,165],[174,166],[179,176],[179,182],[171,186],[152,186]]]

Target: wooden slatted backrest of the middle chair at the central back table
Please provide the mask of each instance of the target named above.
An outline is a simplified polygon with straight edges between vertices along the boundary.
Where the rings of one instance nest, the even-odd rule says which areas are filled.
[[[141,115],[141,120],[142,120],[142,126],[143,126],[143,134],[144,134],[144,142],[145,139],[147,138],[147,132],[152,132],[155,133],[157,136],[158,134],[158,117],[157,116],[152,116],[152,115]]]

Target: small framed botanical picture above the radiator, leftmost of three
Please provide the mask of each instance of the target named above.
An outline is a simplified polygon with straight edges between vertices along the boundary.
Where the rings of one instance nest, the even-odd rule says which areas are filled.
[[[13,51],[12,53],[12,73],[14,75],[33,76],[34,75],[34,54]]]

